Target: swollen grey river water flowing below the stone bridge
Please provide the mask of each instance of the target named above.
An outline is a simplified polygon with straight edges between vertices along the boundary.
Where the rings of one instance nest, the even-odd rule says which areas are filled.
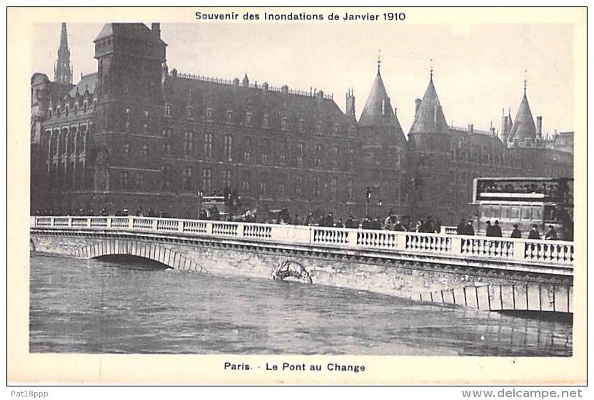
[[[571,322],[31,253],[31,352],[570,356]]]

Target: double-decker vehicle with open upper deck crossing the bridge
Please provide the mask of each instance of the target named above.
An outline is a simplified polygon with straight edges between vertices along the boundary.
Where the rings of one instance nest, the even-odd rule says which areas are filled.
[[[473,204],[478,234],[498,220],[506,237],[514,225],[522,237],[533,225],[543,237],[553,225],[558,240],[573,240],[573,178],[475,178]]]

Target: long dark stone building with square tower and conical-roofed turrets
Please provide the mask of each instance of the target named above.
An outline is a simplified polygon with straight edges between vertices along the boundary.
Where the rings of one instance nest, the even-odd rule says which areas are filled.
[[[431,73],[407,138],[379,62],[357,120],[350,90],[343,113],[323,91],[168,71],[159,24],[106,24],[94,45],[97,72],[73,84],[63,24],[54,81],[31,78],[31,212],[196,217],[198,192],[229,188],[258,210],[453,223],[473,211],[473,178],[573,175],[573,133],[543,138],[525,91],[499,135],[455,128]]]

